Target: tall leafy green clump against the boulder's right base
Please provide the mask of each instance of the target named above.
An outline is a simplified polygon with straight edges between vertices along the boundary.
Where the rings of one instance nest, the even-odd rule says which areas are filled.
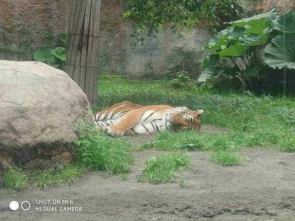
[[[76,126],[75,140],[78,166],[84,169],[105,170],[109,174],[126,173],[133,163],[130,143],[99,134],[95,126],[81,122]]]

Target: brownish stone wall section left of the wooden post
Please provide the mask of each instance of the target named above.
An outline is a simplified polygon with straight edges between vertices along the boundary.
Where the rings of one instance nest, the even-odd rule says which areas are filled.
[[[31,61],[33,51],[54,41],[47,32],[67,30],[66,0],[0,0],[0,60]]]

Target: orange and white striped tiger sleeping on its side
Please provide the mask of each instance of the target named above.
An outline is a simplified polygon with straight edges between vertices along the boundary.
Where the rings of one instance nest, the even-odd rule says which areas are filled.
[[[143,106],[129,101],[114,104],[93,115],[96,128],[112,136],[155,134],[163,130],[200,130],[203,110],[167,105]]]

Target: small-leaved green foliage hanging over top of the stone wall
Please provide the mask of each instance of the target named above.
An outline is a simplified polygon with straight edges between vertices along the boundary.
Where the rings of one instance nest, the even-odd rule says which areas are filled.
[[[163,29],[169,21],[171,29],[183,37],[182,30],[189,30],[193,24],[206,20],[213,29],[222,26],[222,20],[240,16],[242,0],[132,0],[132,8],[123,14],[124,18],[135,20],[131,36],[143,42],[141,33],[148,31],[148,36]]]

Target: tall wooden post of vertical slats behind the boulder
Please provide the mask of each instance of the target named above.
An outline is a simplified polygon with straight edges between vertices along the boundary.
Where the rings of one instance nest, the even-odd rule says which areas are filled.
[[[97,103],[98,35],[101,0],[71,0],[65,71]]]

